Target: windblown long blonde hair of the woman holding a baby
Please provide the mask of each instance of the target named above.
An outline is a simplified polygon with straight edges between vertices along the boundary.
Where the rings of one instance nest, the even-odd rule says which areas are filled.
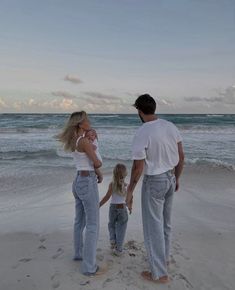
[[[65,151],[75,150],[76,133],[79,130],[79,125],[87,117],[85,111],[74,112],[70,115],[63,131],[56,136],[56,139],[64,144]]]

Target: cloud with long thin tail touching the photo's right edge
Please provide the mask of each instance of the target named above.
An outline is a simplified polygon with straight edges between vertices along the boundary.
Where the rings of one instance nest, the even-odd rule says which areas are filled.
[[[226,88],[223,92],[218,92],[215,97],[185,97],[186,102],[208,102],[208,103],[223,103],[225,105],[235,105],[235,86]]]

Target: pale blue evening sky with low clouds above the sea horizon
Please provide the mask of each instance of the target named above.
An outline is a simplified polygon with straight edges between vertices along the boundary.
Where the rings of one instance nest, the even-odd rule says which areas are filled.
[[[235,113],[235,0],[0,0],[0,113]]]

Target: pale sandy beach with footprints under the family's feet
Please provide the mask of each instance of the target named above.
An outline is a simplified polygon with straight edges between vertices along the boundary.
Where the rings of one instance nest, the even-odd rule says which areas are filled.
[[[25,176],[25,172],[23,173]],[[234,289],[235,179],[223,168],[187,167],[175,193],[171,282],[142,280],[148,269],[143,244],[140,185],[129,216],[125,254],[112,256],[108,241],[108,204],[101,208],[97,261],[106,274],[80,274],[73,257],[74,170],[1,177],[0,289]],[[106,193],[111,176],[99,186]],[[4,181],[4,182],[3,182]],[[14,182],[13,182],[14,181]]]

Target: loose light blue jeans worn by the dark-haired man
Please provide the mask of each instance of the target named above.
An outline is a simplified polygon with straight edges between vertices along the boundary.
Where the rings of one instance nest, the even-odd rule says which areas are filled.
[[[175,184],[175,176],[170,171],[145,175],[143,179],[141,198],[144,243],[153,279],[167,275]]]

